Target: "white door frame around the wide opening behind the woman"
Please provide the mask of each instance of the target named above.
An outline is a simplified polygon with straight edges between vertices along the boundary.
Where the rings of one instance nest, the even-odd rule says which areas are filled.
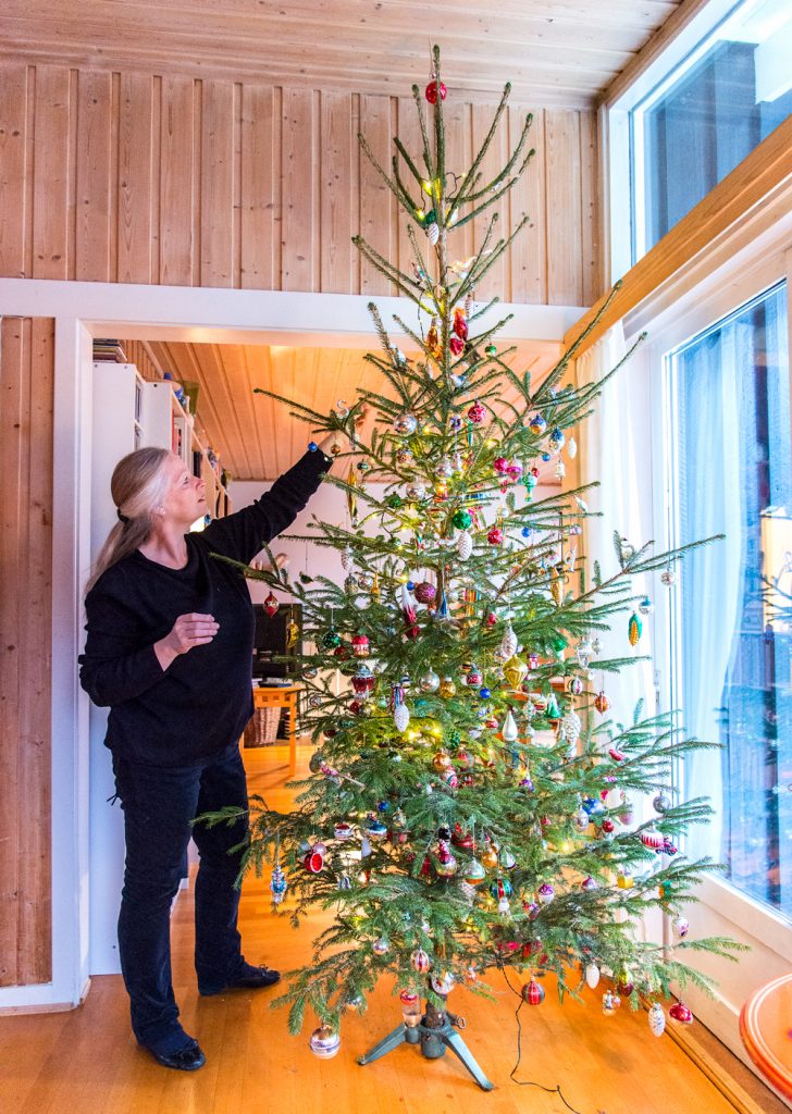
[[[372,349],[372,299],[348,294],[145,286],[125,283],[0,278],[0,316],[55,319],[52,517],[52,981],[0,988],[0,1013],[68,1009],[89,986],[88,710],[79,686],[82,584],[90,564],[91,339],[174,340],[213,344],[285,344]],[[383,321],[405,299],[378,297]],[[585,306],[496,305],[507,313],[503,341],[558,350]],[[399,331],[394,343],[404,343]]]

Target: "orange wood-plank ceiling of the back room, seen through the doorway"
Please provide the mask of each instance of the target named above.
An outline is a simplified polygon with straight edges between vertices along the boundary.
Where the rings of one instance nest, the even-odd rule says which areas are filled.
[[[223,466],[237,480],[275,479],[305,451],[310,427],[286,407],[254,394],[256,387],[327,413],[339,399],[352,404],[361,388],[387,383],[362,350],[278,345],[192,344],[151,341],[160,371],[201,385],[198,422]],[[524,342],[508,356],[538,383],[558,359],[560,345]]]

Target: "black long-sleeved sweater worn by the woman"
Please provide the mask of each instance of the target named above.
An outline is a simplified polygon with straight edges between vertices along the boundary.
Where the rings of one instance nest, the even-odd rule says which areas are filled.
[[[80,683],[95,704],[110,709],[110,750],[134,762],[179,766],[239,737],[253,714],[253,606],[239,571],[211,554],[251,561],[294,521],[329,467],[321,451],[306,452],[252,507],[185,535],[184,568],[136,550],[99,577],[86,597]],[[214,615],[219,629],[163,671],[154,644],[189,612]]]

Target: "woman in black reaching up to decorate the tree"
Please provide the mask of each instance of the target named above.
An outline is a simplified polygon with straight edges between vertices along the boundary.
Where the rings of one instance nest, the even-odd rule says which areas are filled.
[[[170,981],[170,906],[195,839],[195,967],[202,995],[267,987],[277,971],[242,956],[234,881],[244,839],[233,827],[192,827],[223,805],[247,807],[238,740],[253,714],[254,617],[238,570],[303,509],[331,465],[330,434],[252,507],[209,524],[204,482],[164,449],[139,449],[116,467],[119,522],[86,596],[80,681],[109,706],[106,745],[124,809],[126,870],[118,919],[124,981],[138,1042],[166,1067],[205,1063],[178,1022]]]

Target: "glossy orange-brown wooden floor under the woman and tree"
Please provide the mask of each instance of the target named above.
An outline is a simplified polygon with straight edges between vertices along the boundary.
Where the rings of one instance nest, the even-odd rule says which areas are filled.
[[[301,749],[302,750],[302,749]],[[304,762],[306,754],[302,754]],[[247,751],[251,789],[273,807],[283,789],[286,747]],[[283,763],[278,765],[278,763]],[[312,1025],[296,1038],[272,991],[199,998],[192,966],[192,897],[174,915],[174,985],[187,1032],[207,1056],[194,1075],[159,1067],[135,1044],[120,977],[95,978],[88,998],[67,1014],[0,1018],[0,1111],[3,1114],[565,1114],[557,1094],[509,1079],[517,1049],[517,999],[490,979],[496,1004],[454,990],[452,1008],[468,1022],[466,1039],[496,1084],[481,1092],[450,1054],[424,1059],[407,1046],[366,1067],[356,1057],[399,1024],[398,999],[381,986],[364,1016],[348,1016],[331,1061],[307,1048]],[[319,918],[294,932],[268,908],[266,879],[245,886],[241,928],[245,954],[289,969],[304,964]],[[646,1015],[603,1016],[599,995],[563,1008],[548,988],[545,1004],[525,1007],[519,1077],[554,1088],[579,1114],[733,1114],[734,1107],[667,1036],[649,1034]]]

